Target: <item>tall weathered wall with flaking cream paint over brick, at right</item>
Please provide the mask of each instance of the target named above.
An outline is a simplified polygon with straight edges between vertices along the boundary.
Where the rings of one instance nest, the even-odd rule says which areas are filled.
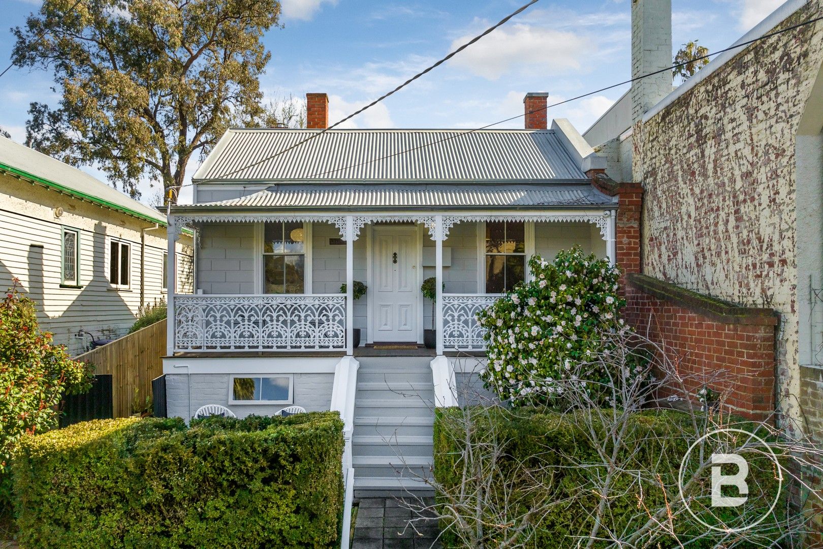
[[[779,28],[819,15],[813,0]],[[778,310],[779,407],[795,420],[795,136],[821,61],[820,22],[752,44],[635,124],[633,136],[635,178],[645,188],[643,272]]]

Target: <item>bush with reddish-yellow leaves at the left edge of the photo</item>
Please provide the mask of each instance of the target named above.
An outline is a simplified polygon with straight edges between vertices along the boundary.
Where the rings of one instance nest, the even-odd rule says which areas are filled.
[[[89,367],[40,332],[35,304],[18,286],[15,279],[0,301],[0,504],[9,497],[8,468],[21,437],[57,425],[63,393],[91,388]]]

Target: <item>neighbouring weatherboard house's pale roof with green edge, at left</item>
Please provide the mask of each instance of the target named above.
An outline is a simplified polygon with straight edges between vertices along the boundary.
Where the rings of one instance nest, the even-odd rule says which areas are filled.
[[[167,226],[165,216],[154,208],[129,198],[100,179],[77,170],[51,156],[0,137],[0,173],[27,179],[74,198],[94,202],[128,216]]]

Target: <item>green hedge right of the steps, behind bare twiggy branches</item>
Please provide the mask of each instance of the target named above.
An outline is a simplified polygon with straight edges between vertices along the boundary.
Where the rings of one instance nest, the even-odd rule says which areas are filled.
[[[677,508],[681,459],[696,438],[686,436],[691,416],[671,410],[635,412],[619,443],[621,455],[610,461],[614,445],[605,446],[607,456],[598,453],[591,430],[601,430],[602,425],[584,417],[587,413],[543,407],[438,408],[435,512],[444,547],[497,547],[518,528],[522,537],[507,540],[514,547],[585,547],[593,531],[594,509],[602,501],[597,486],[610,472],[607,463],[618,465],[611,471],[615,477],[598,532],[603,541],[593,547],[617,547],[607,540],[626,540],[649,523],[651,514],[667,508],[672,509],[677,539],[664,527],[650,528],[648,535],[625,547],[681,547],[687,541],[686,547],[718,547],[718,536],[724,535],[725,547],[772,547],[781,537],[778,528],[766,527],[757,533],[756,542],[741,536],[732,539],[710,532]],[[601,437],[609,440],[605,433],[594,436]],[[776,483],[770,463],[752,465],[747,480],[750,486]],[[780,509],[778,505],[772,523],[779,522]],[[663,514],[661,522],[666,518]]]

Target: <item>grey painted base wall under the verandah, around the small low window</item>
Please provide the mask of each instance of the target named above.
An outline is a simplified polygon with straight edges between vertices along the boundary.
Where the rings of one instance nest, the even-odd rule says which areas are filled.
[[[254,376],[259,374],[249,374]],[[228,407],[238,417],[249,414],[271,416],[289,404],[232,404],[229,405],[228,374],[169,374],[165,376],[165,393],[169,417],[190,417],[198,408],[206,404],[221,404]],[[309,412],[328,410],[332,405],[332,385],[334,374],[294,374],[294,403]],[[191,404],[188,402],[189,381],[191,383]]]

